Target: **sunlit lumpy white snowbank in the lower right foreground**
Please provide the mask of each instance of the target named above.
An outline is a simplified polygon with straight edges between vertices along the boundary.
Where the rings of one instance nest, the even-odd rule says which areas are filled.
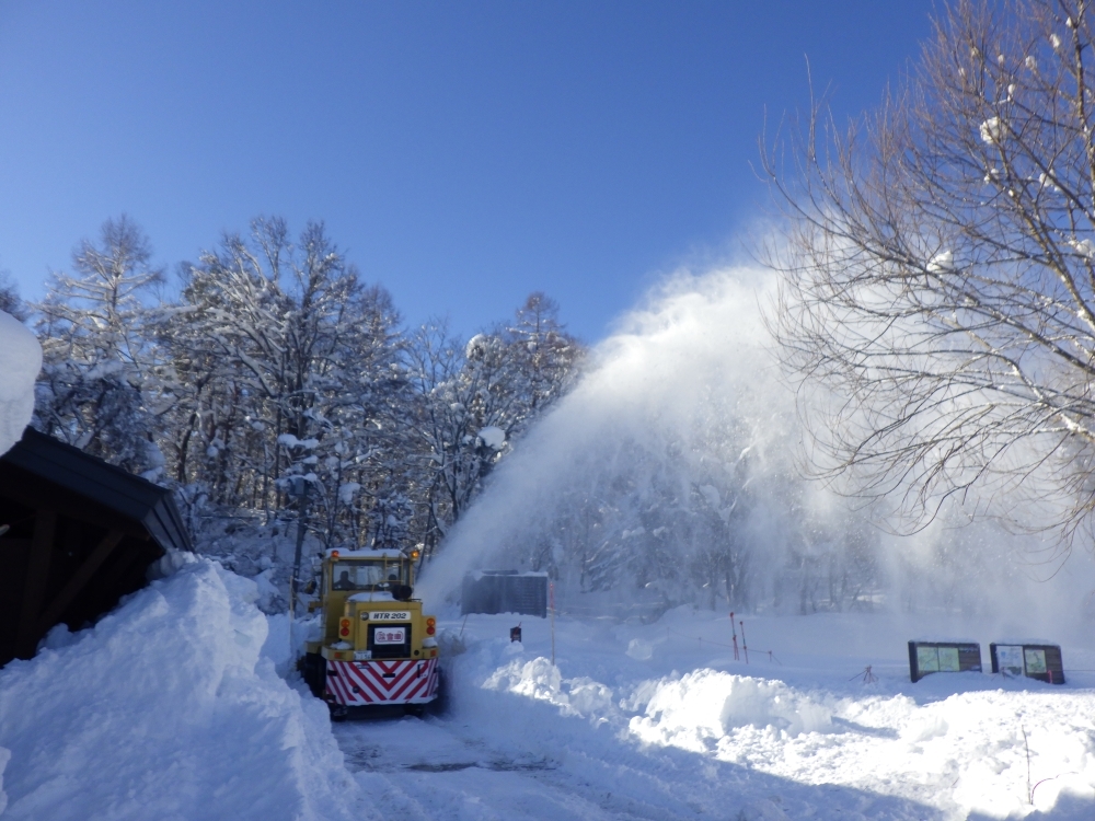
[[[927,806],[953,801],[957,817],[1006,818],[1024,805],[1052,808],[1062,790],[1095,809],[1095,722],[1085,715],[1092,701],[1090,693],[998,691],[918,705],[906,695],[864,694],[840,699],[830,714],[779,680],[698,670],[660,683],[629,729],[649,744],[796,783],[903,794]],[[1026,784],[1027,748],[1036,790]],[[950,800],[941,802],[944,786]]]

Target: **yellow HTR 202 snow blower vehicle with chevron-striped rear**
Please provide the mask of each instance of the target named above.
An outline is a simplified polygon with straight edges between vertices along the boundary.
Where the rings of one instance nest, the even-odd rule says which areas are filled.
[[[327,551],[322,559],[322,637],[301,671],[334,719],[350,707],[405,705],[420,713],[440,694],[437,620],[412,599],[413,559],[401,551]]]

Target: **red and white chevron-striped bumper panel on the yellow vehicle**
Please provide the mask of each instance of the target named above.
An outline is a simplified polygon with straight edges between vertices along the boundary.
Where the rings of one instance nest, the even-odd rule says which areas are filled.
[[[437,697],[437,659],[327,659],[327,701],[347,707],[425,704]]]

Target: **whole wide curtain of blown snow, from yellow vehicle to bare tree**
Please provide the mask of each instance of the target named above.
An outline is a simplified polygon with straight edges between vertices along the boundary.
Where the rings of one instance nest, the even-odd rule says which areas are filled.
[[[563,608],[596,594],[591,606],[1074,614],[1090,574],[1034,583],[1030,540],[946,512],[896,536],[878,509],[803,478],[810,408],[763,321],[776,288],[772,271],[733,267],[653,291],[514,443],[425,568],[423,598],[440,603],[474,570],[549,569]]]

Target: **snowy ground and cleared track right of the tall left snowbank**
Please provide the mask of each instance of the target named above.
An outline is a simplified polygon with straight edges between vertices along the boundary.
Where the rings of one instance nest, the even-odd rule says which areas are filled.
[[[519,620],[525,641],[510,644]],[[725,614],[562,617],[553,668],[546,622],[473,615],[445,717],[335,735],[362,794],[395,818],[1095,818],[1095,673],[912,684],[903,620],[745,621],[748,664]],[[1095,654],[1067,644],[1064,657],[1095,670]]]

